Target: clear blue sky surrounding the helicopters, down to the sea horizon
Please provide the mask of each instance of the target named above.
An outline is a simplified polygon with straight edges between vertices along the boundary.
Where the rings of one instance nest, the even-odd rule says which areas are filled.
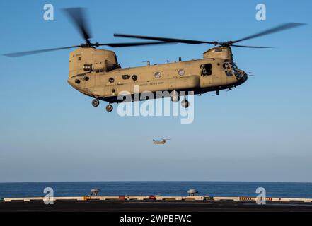
[[[42,19],[54,5],[54,21]],[[267,21],[255,6],[267,6]],[[195,121],[119,117],[67,83],[68,50],[0,56],[0,182],[218,180],[311,182],[311,1],[9,1],[0,3],[1,53],[81,44],[61,8],[88,8],[95,42],[114,32],[235,40],[286,22],[309,25],[233,48],[255,76],[231,92],[195,97]],[[113,49],[122,67],[200,59],[211,46]],[[166,145],[152,138],[167,137]]]

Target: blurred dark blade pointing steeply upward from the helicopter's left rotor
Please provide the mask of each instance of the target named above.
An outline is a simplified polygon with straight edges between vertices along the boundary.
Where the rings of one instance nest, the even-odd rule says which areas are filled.
[[[86,18],[86,8],[64,8],[63,10],[74,25],[76,25],[83,39],[85,41],[89,40],[92,36]]]

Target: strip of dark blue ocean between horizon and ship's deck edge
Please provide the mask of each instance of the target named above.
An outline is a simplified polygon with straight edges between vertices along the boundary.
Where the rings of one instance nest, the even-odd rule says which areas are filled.
[[[187,196],[188,189],[198,195],[249,196],[263,187],[267,197],[312,198],[312,183],[290,182],[30,182],[0,183],[0,198],[45,196],[45,187],[52,187],[54,196],[85,196],[93,188],[100,195],[163,195]]]

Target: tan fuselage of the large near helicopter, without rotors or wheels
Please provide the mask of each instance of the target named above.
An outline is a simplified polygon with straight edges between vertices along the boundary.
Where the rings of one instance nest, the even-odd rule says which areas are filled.
[[[236,67],[229,47],[209,49],[203,59],[125,69],[120,68],[112,51],[79,48],[70,55],[68,83],[85,95],[113,103],[123,101],[118,98],[120,93],[133,96],[136,85],[139,93],[175,90],[219,94],[219,90],[246,80],[247,74]]]

